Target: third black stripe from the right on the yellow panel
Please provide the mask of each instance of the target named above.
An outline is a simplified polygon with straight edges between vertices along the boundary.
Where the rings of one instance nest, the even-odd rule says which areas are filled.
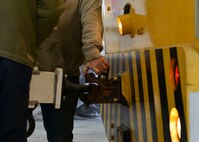
[[[150,116],[151,116],[152,139],[153,139],[153,142],[158,142],[149,50],[145,51],[145,62],[146,62],[146,73],[147,73],[147,84],[148,84],[148,95],[149,95],[149,107],[150,107],[150,114],[151,114]]]

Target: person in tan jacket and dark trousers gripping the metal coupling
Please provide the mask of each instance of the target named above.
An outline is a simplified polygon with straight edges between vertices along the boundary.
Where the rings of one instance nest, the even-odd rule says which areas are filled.
[[[64,74],[79,83],[79,67],[84,64],[84,74],[93,70],[101,74],[109,69],[109,63],[100,54],[103,49],[103,24],[101,0],[66,0],[52,34],[38,49],[39,70],[53,71],[63,68]],[[63,90],[61,108],[41,104],[44,127],[49,142],[72,142],[73,121],[78,93]]]

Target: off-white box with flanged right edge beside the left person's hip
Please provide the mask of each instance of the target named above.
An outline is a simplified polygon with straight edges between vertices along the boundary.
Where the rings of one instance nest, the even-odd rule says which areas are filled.
[[[35,70],[37,71],[37,70]],[[55,108],[60,108],[62,92],[63,70],[56,68],[55,72],[38,71],[38,74],[32,75],[30,82],[30,102],[53,103]]]

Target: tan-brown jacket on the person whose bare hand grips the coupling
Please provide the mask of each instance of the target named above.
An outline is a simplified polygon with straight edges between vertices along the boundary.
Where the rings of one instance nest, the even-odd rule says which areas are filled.
[[[78,75],[79,66],[102,50],[101,0],[67,0],[57,27],[38,50],[41,70],[64,69]]]

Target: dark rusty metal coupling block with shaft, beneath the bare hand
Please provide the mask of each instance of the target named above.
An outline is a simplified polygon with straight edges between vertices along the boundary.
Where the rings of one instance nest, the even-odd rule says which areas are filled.
[[[85,82],[87,85],[76,85],[66,78],[64,87],[67,90],[80,92],[79,98],[86,105],[92,103],[121,103],[128,106],[127,101],[122,96],[119,75],[108,79],[107,77],[95,77],[93,73],[87,73]]]

